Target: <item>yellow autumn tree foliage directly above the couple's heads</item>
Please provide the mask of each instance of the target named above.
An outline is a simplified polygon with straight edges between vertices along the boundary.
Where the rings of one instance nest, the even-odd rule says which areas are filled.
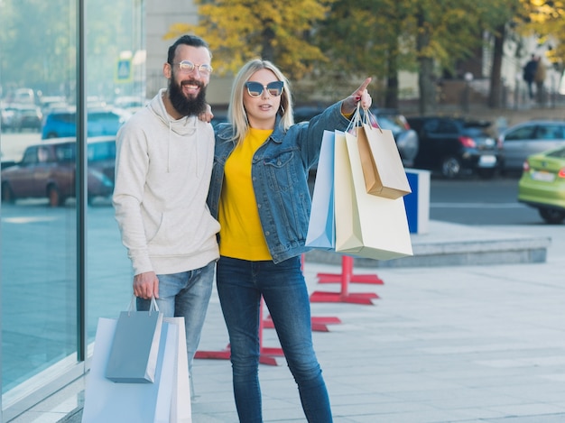
[[[165,39],[192,32],[201,36],[214,54],[220,75],[236,73],[247,60],[272,60],[290,78],[301,78],[315,61],[326,60],[310,43],[310,31],[324,19],[335,0],[195,0],[199,23],[175,23]]]

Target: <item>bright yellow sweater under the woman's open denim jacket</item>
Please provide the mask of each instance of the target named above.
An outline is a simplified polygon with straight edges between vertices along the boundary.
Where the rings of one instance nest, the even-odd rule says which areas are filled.
[[[219,200],[219,253],[235,259],[273,260],[264,239],[251,180],[251,161],[273,130],[250,128],[226,161]]]

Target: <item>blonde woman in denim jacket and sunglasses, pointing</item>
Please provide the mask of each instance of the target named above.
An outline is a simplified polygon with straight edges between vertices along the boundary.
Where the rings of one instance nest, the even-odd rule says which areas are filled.
[[[263,421],[258,368],[261,297],[298,384],[309,422],[332,421],[314,353],[301,253],[310,216],[308,172],[324,130],[345,130],[366,87],[294,124],[288,80],[273,63],[251,60],[236,75],[228,124],[218,125],[208,206],[220,223],[218,295],[227,324],[240,421]]]

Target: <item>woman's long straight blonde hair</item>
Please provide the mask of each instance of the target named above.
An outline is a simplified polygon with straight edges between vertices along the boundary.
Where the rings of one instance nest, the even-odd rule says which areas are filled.
[[[281,95],[281,106],[277,111],[277,114],[281,115],[281,129],[286,131],[294,124],[292,96],[288,79],[284,77],[281,70],[274,66],[269,60],[249,60],[245,63],[243,68],[239,69],[239,72],[237,72],[231,90],[229,106],[227,108],[227,119],[234,127],[234,139],[236,143],[241,143],[249,130],[249,120],[247,119],[244,107],[245,82],[260,69],[271,70],[274,76],[284,84]]]

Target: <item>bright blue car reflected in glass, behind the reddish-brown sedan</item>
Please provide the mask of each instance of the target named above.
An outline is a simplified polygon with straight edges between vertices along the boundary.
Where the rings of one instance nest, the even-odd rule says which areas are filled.
[[[124,109],[90,108],[87,114],[88,136],[116,135],[131,113]],[[42,124],[42,139],[77,135],[77,114],[74,107],[52,110]]]

